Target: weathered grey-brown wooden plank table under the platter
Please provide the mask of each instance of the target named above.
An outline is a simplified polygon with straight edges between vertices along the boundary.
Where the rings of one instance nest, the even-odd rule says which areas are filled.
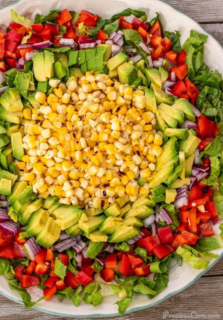
[[[13,2],[13,0],[0,0],[0,8]],[[223,0],[167,0],[166,2],[198,21],[205,30],[223,44]],[[171,315],[177,315],[179,312],[182,314],[195,312],[197,315],[218,314],[220,315],[219,319],[223,319],[222,280],[223,259],[187,290],[155,307],[124,317],[117,317],[116,319],[161,320],[165,311],[168,311]],[[12,318],[16,320],[56,320],[59,317],[44,314],[33,309],[25,310],[20,304],[0,296],[0,319],[11,320]],[[61,317],[59,319],[68,320],[69,318]],[[200,319],[202,318],[200,317]]]

